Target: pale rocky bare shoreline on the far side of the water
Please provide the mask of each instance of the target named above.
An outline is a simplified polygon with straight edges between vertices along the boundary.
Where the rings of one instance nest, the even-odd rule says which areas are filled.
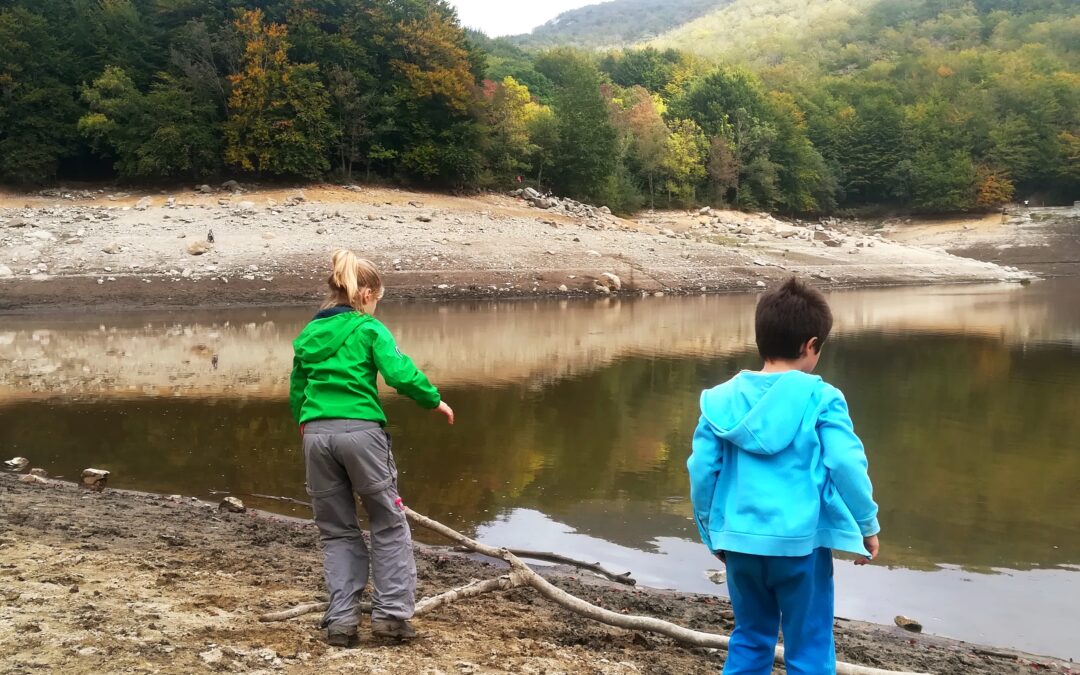
[[[214,243],[201,248],[213,230]],[[792,272],[828,285],[1017,280],[985,261],[854,224],[737,212],[576,217],[507,195],[314,186],[213,194],[0,193],[0,310],[295,302],[323,293],[332,249],[421,297],[755,288]]]

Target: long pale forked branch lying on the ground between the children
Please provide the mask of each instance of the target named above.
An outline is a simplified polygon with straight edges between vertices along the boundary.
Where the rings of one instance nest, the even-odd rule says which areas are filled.
[[[436,595],[431,598],[424,598],[416,607],[416,615],[420,616],[432,611],[443,605],[448,605],[455,600],[481,595],[482,593],[487,593],[490,591],[508,591],[510,589],[515,589],[519,586],[531,586],[540,595],[555,603],[564,609],[568,609],[573,613],[584,617],[586,619],[592,619],[594,621],[599,621],[600,623],[606,623],[607,625],[612,625],[620,629],[626,629],[630,631],[644,631],[648,633],[657,633],[660,635],[665,635],[672,639],[679,642],[684,645],[690,645],[692,647],[705,647],[713,649],[727,649],[728,644],[731,639],[726,635],[716,635],[713,633],[703,633],[701,631],[692,631],[690,629],[683,627],[678,624],[672,623],[670,621],[663,621],[662,619],[656,619],[653,617],[639,617],[634,615],[622,615],[619,612],[611,611],[610,609],[604,609],[603,607],[597,607],[591,603],[586,603],[580,597],[570,595],[566,591],[552,585],[546,579],[538,575],[537,572],[529,569],[528,565],[522,562],[516,555],[511,553],[507,549],[497,549],[495,546],[489,546],[483,544],[478,541],[465,537],[461,532],[438,523],[437,521],[432,521],[431,518],[413,511],[411,509],[405,509],[405,515],[415,525],[430,529],[434,532],[438,532],[443,537],[446,537],[450,541],[457,543],[458,545],[464,546],[470,551],[474,551],[482,555],[488,557],[495,557],[505,561],[510,565],[510,573],[499,577],[498,579],[491,579],[483,582],[472,582],[460,589],[455,589],[453,591],[447,591],[441,595]],[[284,619],[291,619],[294,617],[299,617],[311,611],[319,611],[325,609],[325,604],[311,604],[311,605],[300,605],[299,607],[294,607],[293,609],[287,609],[285,611],[276,612],[274,615],[265,615],[260,617],[260,621],[282,621]],[[300,609],[303,611],[299,611]],[[774,660],[777,663],[783,664],[784,662],[784,648],[777,647]],[[865,665],[856,665],[853,663],[843,663],[842,661],[837,661],[836,663],[837,675],[923,675],[918,673],[907,673],[897,671],[883,671],[876,667],[869,667]]]

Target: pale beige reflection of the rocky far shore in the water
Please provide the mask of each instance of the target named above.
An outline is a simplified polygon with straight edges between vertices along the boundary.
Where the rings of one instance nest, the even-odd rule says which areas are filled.
[[[1068,283],[1068,282],[1050,282]],[[1014,284],[831,294],[836,334],[985,335],[1080,345],[1080,319],[1051,311],[1054,287]],[[403,348],[446,386],[550,381],[630,354],[717,356],[753,350],[753,295],[595,301],[406,303],[380,312]],[[1061,301],[1058,300],[1058,303]],[[309,309],[9,316],[0,401],[55,395],[278,399],[291,340]]]

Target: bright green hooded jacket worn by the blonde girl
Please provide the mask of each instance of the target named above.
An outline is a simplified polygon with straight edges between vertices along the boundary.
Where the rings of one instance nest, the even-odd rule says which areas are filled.
[[[360,419],[387,423],[376,376],[422,407],[442,399],[394,336],[374,316],[345,308],[320,312],[293,341],[288,402],[297,423]]]

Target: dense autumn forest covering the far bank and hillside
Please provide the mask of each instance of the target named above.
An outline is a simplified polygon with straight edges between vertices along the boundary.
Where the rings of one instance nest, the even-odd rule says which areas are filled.
[[[622,213],[1080,199],[1074,0],[863,4],[732,54],[538,51],[444,0],[12,0],[0,180],[535,185]]]

